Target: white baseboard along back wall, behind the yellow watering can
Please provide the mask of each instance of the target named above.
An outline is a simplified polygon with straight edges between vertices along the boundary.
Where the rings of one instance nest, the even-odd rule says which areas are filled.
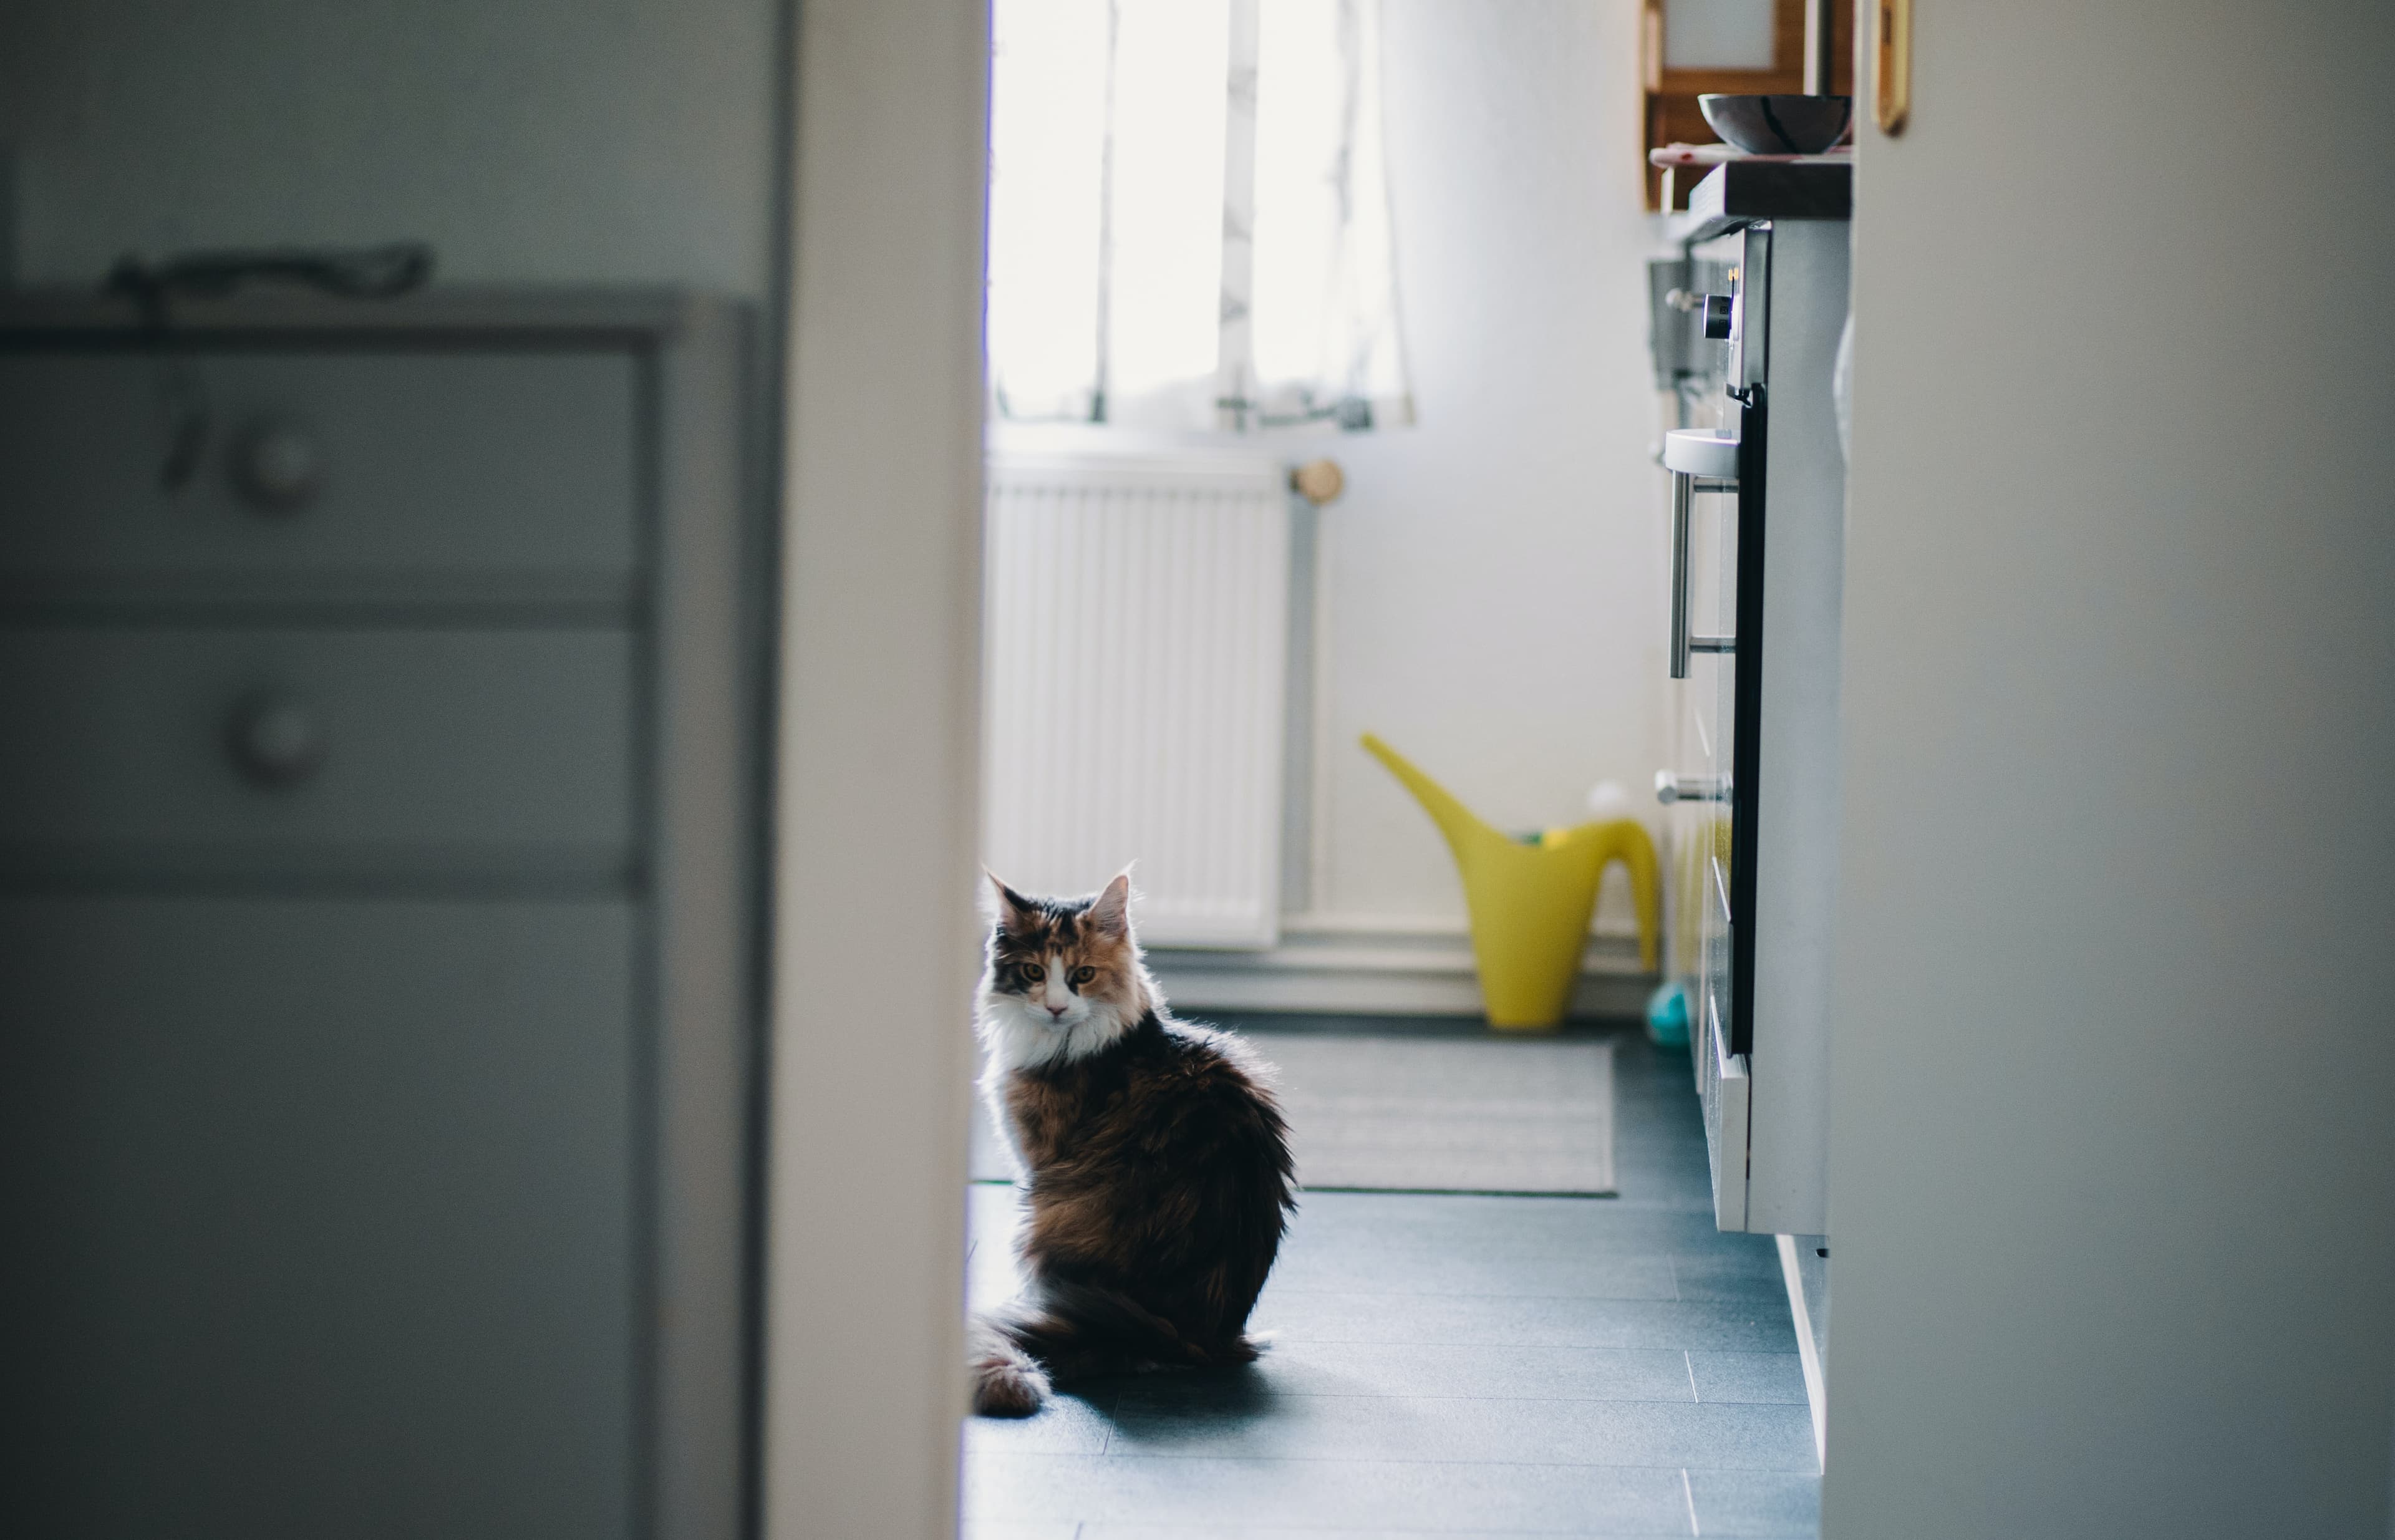
[[[1471,936],[1454,927],[1329,929],[1289,924],[1269,951],[1150,948],[1178,1011],[1310,1011],[1334,1015],[1480,1015]],[[1571,1015],[1638,1015],[1655,975],[1638,944],[1590,936]]]

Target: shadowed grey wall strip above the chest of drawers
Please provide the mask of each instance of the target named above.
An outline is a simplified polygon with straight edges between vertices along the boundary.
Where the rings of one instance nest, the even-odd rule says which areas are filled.
[[[759,297],[778,0],[10,0],[22,283],[431,240],[453,283]],[[0,263],[5,271],[7,263]]]

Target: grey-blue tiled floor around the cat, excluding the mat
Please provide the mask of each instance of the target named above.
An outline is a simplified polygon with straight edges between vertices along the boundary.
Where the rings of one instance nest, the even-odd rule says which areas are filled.
[[[1614,1071],[1619,1198],[1308,1195],[1265,1360],[975,1420],[968,1540],[1815,1535],[1772,1243],[1712,1229],[1686,1056]],[[994,1303],[1013,1190],[972,1226]]]

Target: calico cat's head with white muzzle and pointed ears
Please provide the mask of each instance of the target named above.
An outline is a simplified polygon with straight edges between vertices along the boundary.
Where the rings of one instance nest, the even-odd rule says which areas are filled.
[[[989,881],[982,1020],[1020,1037],[1025,1061],[1095,1051],[1145,1015],[1128,872],[1090,898],[1025,898]]]

